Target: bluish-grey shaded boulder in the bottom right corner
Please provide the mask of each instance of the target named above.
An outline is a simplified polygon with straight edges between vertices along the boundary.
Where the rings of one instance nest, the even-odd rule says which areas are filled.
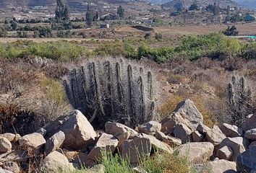
[[[256,172],[256,146],[252,146],[247,151],[239,154],[236,159],[237,172],[254,173]]]

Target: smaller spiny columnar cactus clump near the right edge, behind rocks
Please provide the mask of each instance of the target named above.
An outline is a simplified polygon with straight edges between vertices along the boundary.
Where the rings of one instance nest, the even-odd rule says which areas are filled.
[[[233,123],[241,125],[245,117],[252,113],[252,92],[244,77],[232,76],[228,97]]]

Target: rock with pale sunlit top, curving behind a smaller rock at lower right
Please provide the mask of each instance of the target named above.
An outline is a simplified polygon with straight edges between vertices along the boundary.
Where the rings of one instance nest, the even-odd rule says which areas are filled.
[[[239,154],[242,154],[242,152],[245,151],[245,148],[247,148],[247,141],[242,137],[225,138],[218,148],[222,148],[223,146],[229,146],[233,151],[229,161],[236,161],[236,157],[239,156]]]

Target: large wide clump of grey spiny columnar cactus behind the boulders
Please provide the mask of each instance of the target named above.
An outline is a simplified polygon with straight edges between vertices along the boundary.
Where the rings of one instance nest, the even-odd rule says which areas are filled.
[[[74,109],[99,128],[108,120],[135,127],[154,116],[152,72],[125,59],[75,68],[64,80],[64,87]]]

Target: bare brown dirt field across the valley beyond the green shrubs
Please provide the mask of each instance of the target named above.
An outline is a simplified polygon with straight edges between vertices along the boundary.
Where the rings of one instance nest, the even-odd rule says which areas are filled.
[[[173,38],[181,37],[182,35],[205,35],[211,32],[218,32],[226,30],[229,25],[184,25],[184,26],[161,26],[154,27],[154,32],[161,33],[163,37]],[[236,24],[236,28],[239,30],[239,35],[256,35],[256,22],[252,23],[241,23]],[[75,30],[73,30],[75,31]],[[35,42],[48,42],[55,40],[67,40],[67,41],[90,41],[90,40],[103,40],[111,41],[114,39],[124,39],[124,38],[143,38],[146,32],[137,30],[130,26],[124,25],[120,27],[115,27],[113,29],[86,29],[86,30],[77,30],[79,32],[85,32],[88,35],[95,33],[95,35],[101,35],[101,33],[107,33],[108,37],[97,39],[96,37],[88,38],[0,38],[0,43],[13,42],[16,40],[33,40]],[[89,34],[90,33],[90,34]]]

